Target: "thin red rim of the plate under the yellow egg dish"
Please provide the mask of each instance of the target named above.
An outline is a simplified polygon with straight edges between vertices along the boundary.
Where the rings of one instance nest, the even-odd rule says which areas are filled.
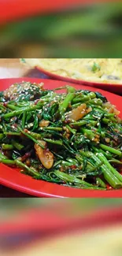
[[[98,82],[89,82],[89,81],[85,81],[85,80],[76,80],[73,78],[68,78],[65,76],[59,76],[56,75],[52,72],[48,72],[45,69],[36,67],[36,69],[38,69],[39,71],[45,73],[47,76],[50,76],[56,80],[63,80],[63,81],[68,81],[70,83],[77,83],[77,84],[84,84],[90,87],[97,87],[100,88],[102,90],[105,91],[110,91],[113,93],[116,93],[118,95],[122,95],[122,84],[116,84],[116,83],[98,83]]]

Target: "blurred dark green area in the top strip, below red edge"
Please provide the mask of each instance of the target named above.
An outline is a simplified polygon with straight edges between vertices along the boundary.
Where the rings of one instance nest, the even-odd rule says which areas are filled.
[[[121,58],[122,2],[20,20],[0,38],[0,58]]]

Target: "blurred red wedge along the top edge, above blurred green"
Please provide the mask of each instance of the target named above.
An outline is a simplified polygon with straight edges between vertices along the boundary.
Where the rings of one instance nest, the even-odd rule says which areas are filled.
[[[0,24],[18,20],[24,17],[53,13],[76,6],[89,5],[99,2],[113,2],[112,0],[0,0]],[[119,1],[118,1],[119,2]]]

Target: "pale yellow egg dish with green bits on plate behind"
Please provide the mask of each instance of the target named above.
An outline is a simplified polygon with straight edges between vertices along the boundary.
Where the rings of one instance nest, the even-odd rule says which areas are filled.
[[[25,58],[31,67],[75,80],[99,83],[122,83],[120,58]]]

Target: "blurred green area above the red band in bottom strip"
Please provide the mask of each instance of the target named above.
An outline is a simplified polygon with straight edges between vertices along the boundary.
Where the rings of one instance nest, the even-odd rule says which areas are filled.
[[[0,218],[9,220],[26,210],[54,210],[64,217],[83,217],[96,210],[122,206],[122,198],[0,198]]]

